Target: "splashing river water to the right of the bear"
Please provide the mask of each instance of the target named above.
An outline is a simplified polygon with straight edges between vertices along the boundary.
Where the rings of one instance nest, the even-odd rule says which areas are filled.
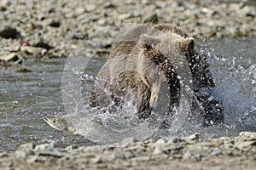
[[[252,41],[255,43],[255,38]],[[255,131],[255,52],[244,38],[221,43],[211,42],[208,46],[212,74],[218,87],[215,94],[222,101],[225,125],[237,132]]]

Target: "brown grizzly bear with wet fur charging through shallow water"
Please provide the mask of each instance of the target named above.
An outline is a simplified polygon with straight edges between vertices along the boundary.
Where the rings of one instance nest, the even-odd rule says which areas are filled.
[[[143,25],[120,35],[112,52],[96,77],[90,92],[90,106],[102,109],[110,105],[122,107],[131,100],[137,116],[147,119],[154,111],[160,95],[169,97],[160,102],[169,106],[169,113],[178,107],[183,86],[184,61],[188,63],[194,92],[192,107],[200,107],[204,126],[224,122],[219,101],[212,98],[215,88],[204,54],[195,40],[179,27],[168,24]],[[184,60],[183,60],[184,59]],[[167,84],[165,93],[160,93]]]

